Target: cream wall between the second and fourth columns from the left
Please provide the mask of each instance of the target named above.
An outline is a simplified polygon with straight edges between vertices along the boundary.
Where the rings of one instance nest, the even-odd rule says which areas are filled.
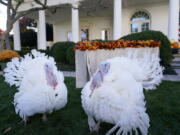
[[[71,21],[53,25],[54,42],[67,41],[67,34],[71,32]],[[112,39],[112,18],[110,17],[86,17],[80,19],[80,29],[89,29],[89,39],[101,39],[101,31],[109,31],[109,39]]]

